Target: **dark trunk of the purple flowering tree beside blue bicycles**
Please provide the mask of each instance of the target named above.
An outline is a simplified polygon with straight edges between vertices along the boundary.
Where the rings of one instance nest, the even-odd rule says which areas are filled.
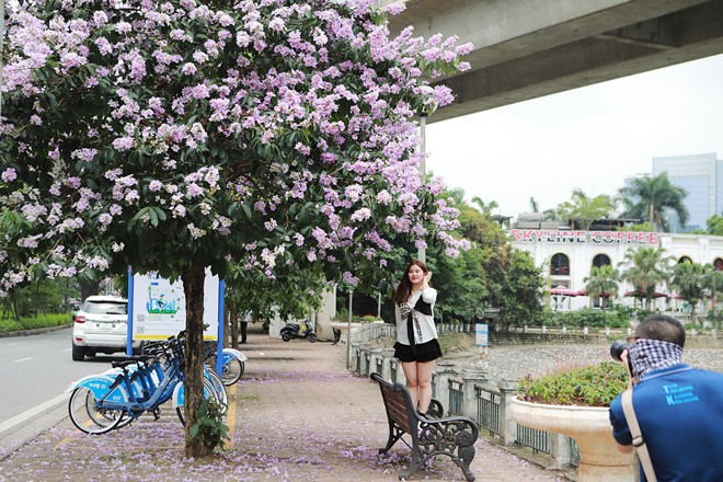
[[[198,409],[204,400],[204,266],[192,264],[183,269],[183,291],[186,296],[186,346],[185,346],[185,439],[187,458],[210,454],[200,437],[191,436],[199,418]]]

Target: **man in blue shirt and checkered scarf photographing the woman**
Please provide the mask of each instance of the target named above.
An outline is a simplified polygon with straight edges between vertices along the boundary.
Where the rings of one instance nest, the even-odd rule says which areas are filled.
[[[630,342],[620,358],[631,372],[634,414],[657,481],[723,481],[723,374],[681,363],[686,332],[672,317],[646,318]],[[633,439],[621,397],[610,403],[610,423],[618,449],[629,454]]]

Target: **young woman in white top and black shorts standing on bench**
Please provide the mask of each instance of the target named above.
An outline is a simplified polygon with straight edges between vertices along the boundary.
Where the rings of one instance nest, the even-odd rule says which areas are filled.
[[[434,324],[434,303],[437,290],[429,286],[432,273],[421,261],[406,267],[397,292],[397,343],[394,357],[402,363],[412,403],[426,413],[432,400],[432,372],[441,356]]]

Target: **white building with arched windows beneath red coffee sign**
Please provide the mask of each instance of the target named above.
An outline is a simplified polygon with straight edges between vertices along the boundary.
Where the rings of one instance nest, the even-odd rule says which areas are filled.
[[[693,263],[713,264],[723,269],[723,237],[678,234],[632,231],[574,231],[563,229],[512,229],[513,246],[532,255],[535,264],[549,276],[551,287],[564,287],[572,291],[585,289],[584,278],[589,276],[593,266],[621,263],[628,250],[639,248],[665,249],[665,254],[678,263],[690,260]],[[655,308],[665,310],[674,306],[673,292],[666,286],[658,287],[667,298],[655,300]],[[628,283],[621,283],[620,294],[632,290]],[[623,302],[633,303],[633,298]],[[618,300],[620,301],[620,300]],[[551,296],[553,309],[579,309],[590,305],[587,296]],[[599,300],[593,300],[599,306]]]

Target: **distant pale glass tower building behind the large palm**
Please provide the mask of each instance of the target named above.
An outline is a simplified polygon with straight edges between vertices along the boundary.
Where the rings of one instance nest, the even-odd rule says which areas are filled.
[[[705,229],[708,218],[723,210],[723,161],[715,158],[715,153],[653,158],[653,175],[667,172],[670,184],[687,193],[686,225],[680,226],[677,216],[668,213],[674,232]]]

